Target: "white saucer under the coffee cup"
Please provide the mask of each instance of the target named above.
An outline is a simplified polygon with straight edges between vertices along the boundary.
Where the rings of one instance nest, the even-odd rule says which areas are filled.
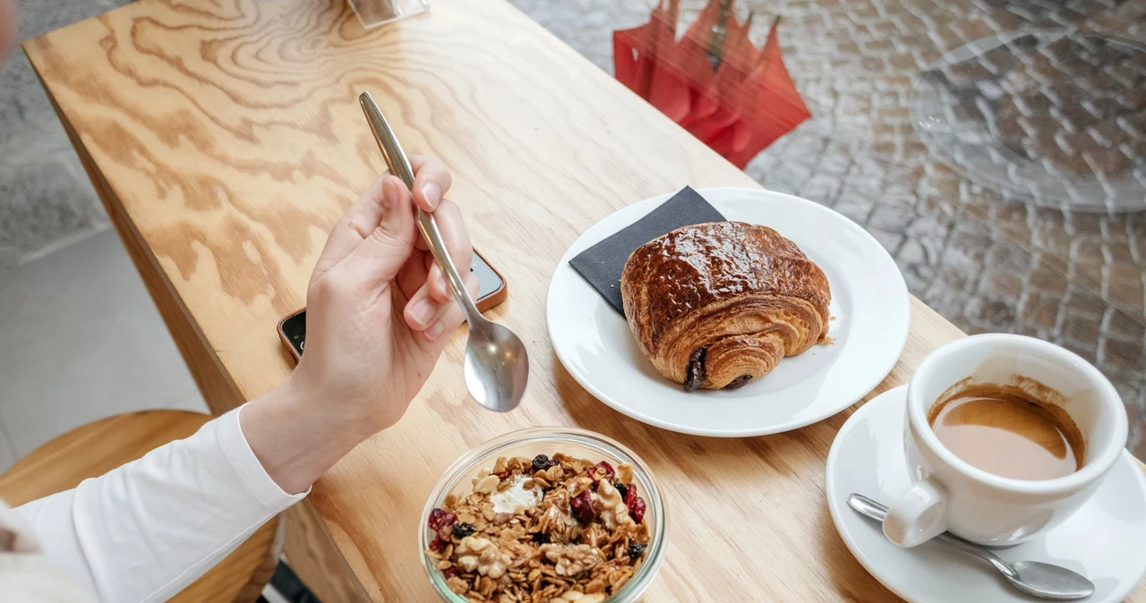
[[[908,601],[1043,601],[1015,590],[986,563],[936,542],[912,549],[893,545],[879,524],[848,507],[857,492],[885,505],[908,490],[903,461],[906,386],[863,405],[827,454],[827,507],[840,537],[859,563]],[[1122,601],[1146,573],[1146,479],[1129,452],[1094,497],[1062,525],[1015,547],[1006,561],[1033,560],[1069,568],[1094,582],[1084,601]]]

